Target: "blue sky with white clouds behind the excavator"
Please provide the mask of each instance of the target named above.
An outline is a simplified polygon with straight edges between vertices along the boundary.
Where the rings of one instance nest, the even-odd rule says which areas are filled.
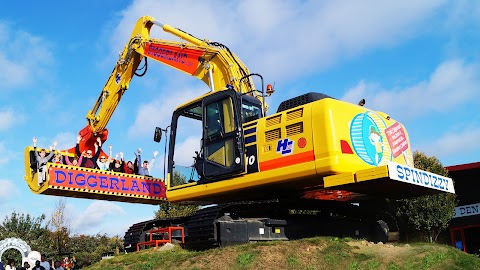
[[[40,147],[74,146],[143,15],[227,45],[275,83],[271,112],[312,91],[365,98],[406,126],[414,150],[445,166],[480,161],[478,1],[9,1],[0,10],[0,220],[12,211],[50,215],[58,197],[29,191],[23,150],[34,136]],[[127,159],[138,147],[158,150],[153,175],[162,177],[154,128],[208,87],[149,64],[112,116],[107,144]],[[67,209],[74,233],[123,236],[158,206],[69,198]]]

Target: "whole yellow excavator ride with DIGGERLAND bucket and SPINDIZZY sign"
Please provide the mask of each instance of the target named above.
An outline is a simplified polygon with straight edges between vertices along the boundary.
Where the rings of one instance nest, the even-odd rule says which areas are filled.
[[[153,26],[180,41],[151,38]],[[79,132],[80,153],[93,150],[98,139],[107,140],[107,123],[133,76],[145,74],[147,59],[210,88],[177,107],[169,129],[155,130],[155,141],[165,134],[169,142],[166,179],[48,162],[46,181],[39,185],[35,149],[26,147],[24,155],[25,180],[36,194],[216,205],[192,217],[135,224],[125,235],[126,246],[144,242],[149,229],[162,226],[184,227],[185,242],[200,246],[325,233],[378,238],[387,230],[375,211],[378,200],[455,192],[452,179],[413,167],[408,133],[389,114],[363,102],[305,93],[267,116],[265,98],[273,87],[265,89],[262,76],[250,73],[228,47],[149,16],[138,20],[88,112],[87,126]],[[261,81],[260,90],[254,80]]]

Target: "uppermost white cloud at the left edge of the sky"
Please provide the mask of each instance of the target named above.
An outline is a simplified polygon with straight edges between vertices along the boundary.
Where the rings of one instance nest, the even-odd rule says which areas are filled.
[[[2,92],[31,85],[52,64],[49,43],[15,26],[0,22],[0,81]]]

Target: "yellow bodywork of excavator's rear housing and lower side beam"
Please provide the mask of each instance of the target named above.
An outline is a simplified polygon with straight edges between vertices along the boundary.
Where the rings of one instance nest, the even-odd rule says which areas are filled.
[[[386,166],[377,167],[367,164],[353,150],[350,124],[356,115],[369,112],[368,109],[334,99],[315,101],[300,106],[300,108],[303,108],[302,113],[298,112],[299,107],[297,107],[258,120],[257,159],[260,164],[281,158],[282,155],[276,151],[277,142],[278,139],[288,137],[295,144],[300,138],[305,138],[306,146],[299,148],[298,145],[295,145],[293,154],[314,151],[314,160],[258,173],[242,174],[231,179],[203,185],[189,184],[175,189],[169,188],[167,190],[168,200],[181,202],[205,199],[208,201],[220,195],[235,194],[259,186],[268,186],[270,190],[275,190],[276,186],[282,183],[291,183],[297,188],[301,188],[303,182],[305,183],[304,187],[323,184],[325,187],[335,187],[377,177],[362,173],[356,180],[355,174],[358,171],[385,171]],[[387,119],[389,117],[386,114],[378,113],[377,116],[382,117],[382,121],[387,126],[396,123],[393,119]],[[294,125],[299,123],[303,124],[303,131],[297,133],[299,129]],[[289,132],[290,136],[287,136]],[[408,134],[406,136],[408,141]],[[340,140],[348,142],[354,154],[342,153]],[[271,150],[266,151],[268,149]],[[386,149],[385,152],[391,153],[389,149]],[[411,151],[408,155],[411,156]],[[392,160],[402,164],[406,163],[403,156]]]

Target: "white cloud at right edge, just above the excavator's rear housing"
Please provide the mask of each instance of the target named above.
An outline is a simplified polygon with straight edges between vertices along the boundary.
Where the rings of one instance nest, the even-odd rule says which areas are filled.
[[[478,99],[479,83],[479,66],[455,59],[441,63],[428,80],[415,85],[385,90],[376,83],[360,81],[342,99],[356,103],[365,98],[366,107],[396,117],[418,117],[457,110],[460,104]]]

